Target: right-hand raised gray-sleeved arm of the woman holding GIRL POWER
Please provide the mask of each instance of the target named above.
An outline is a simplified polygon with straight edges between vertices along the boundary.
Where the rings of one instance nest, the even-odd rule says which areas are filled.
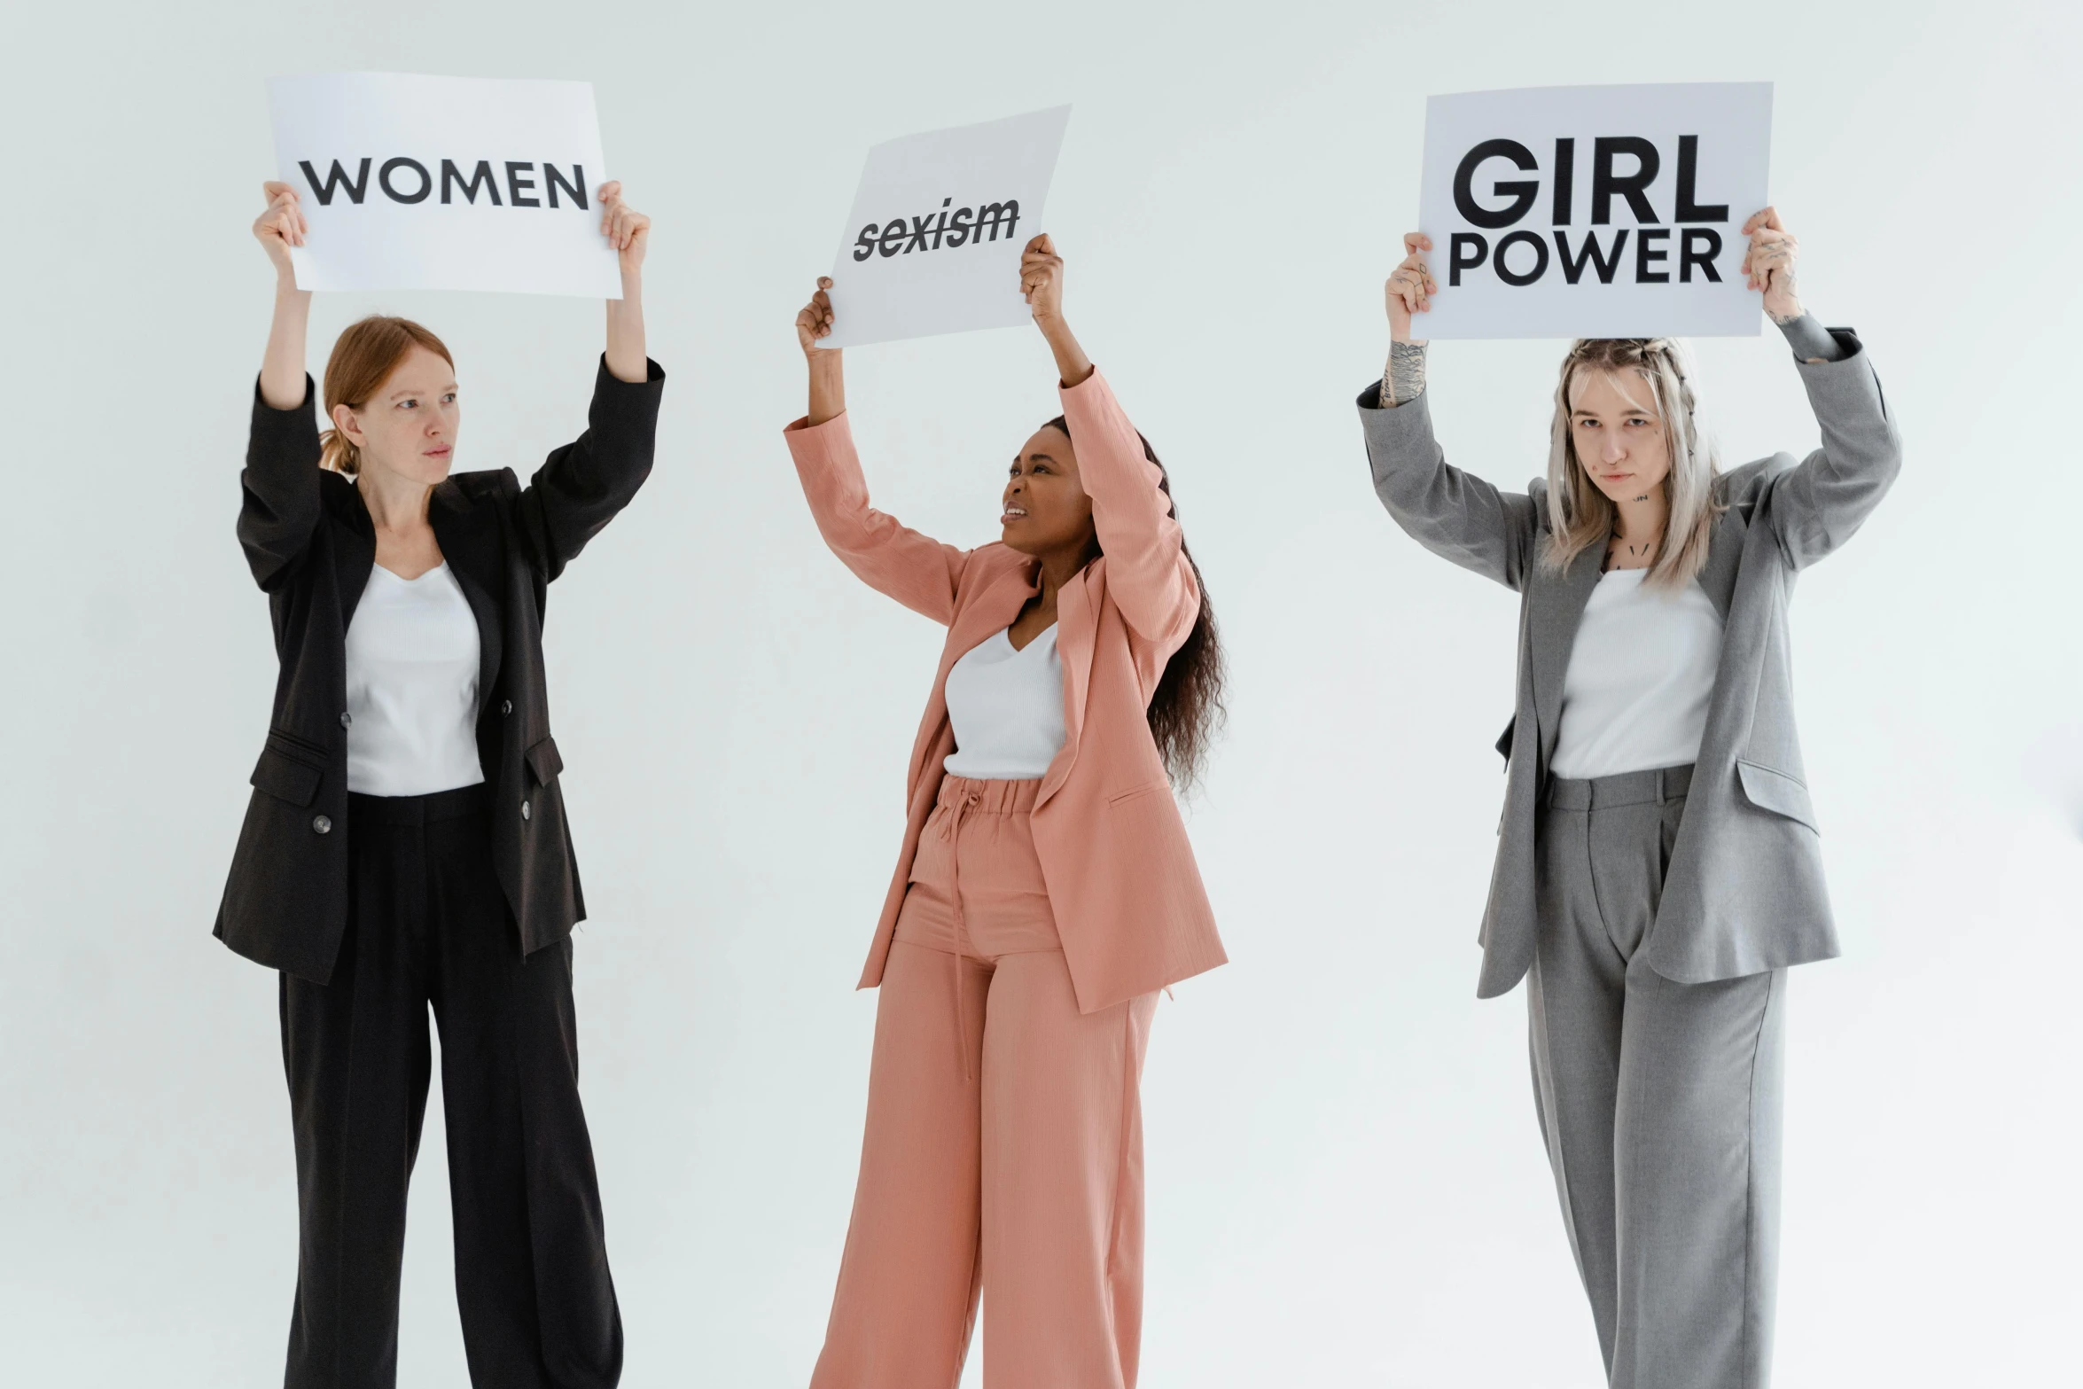
[[[1743,225],[1743,273],[1764,292],[1764,312],[1787,335],[1823,448],[1773,479],[1766,516],[1796,569],[1814,564],[1866,521],[1902,471],[1902,439],[1887,414],[1881,379],[1850,329],[1825,329],[1800,302],[1800,244],[1779,212]]]

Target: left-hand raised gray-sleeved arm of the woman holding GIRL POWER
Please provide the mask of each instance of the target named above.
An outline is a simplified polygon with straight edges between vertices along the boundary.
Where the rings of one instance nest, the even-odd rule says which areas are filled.
[[[1404,237],[1408,252],[1389,275],[1389,364],[1360,392],[1360,429],[1366,433],[1366,462],[1375,475],[1375,496],[1396,516],[1396,525],[1462,569],[1523,587],[1533,564],[1539,516],[1533,498],[1500,491],[1473,473],[1448,464],[1431,431],[1425,396],[1425,344],[1412,339],[1410,317],[1431,310],[1437,283],[1425,264],[1431,239]]]

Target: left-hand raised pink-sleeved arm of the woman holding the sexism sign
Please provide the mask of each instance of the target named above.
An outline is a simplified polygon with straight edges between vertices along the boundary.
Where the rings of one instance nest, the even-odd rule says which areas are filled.
[[[944,546],[869,504],[869,481],[846,423],[846,364],[839,348],[819,348],[831,333],[829,277],[796,314],[796,344],[810,373],[810,412],[781,431],[796,460],[802,496],[817,531],[831,552],[877,594],[933,618],[954,621],[954,594],[969,564],[969,550]]]

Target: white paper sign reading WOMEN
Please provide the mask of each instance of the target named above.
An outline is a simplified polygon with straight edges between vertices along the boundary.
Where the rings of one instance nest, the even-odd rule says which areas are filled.
[[[300,289],[623,296],[594,83],[325,73],[271,79],[269,108]]]

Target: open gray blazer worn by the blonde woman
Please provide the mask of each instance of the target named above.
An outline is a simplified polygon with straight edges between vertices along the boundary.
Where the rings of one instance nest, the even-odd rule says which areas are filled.
[[[1816,816],[1793,733],[1787,600],[1796,575],[1841,546],[1887,494],[1902,444],[1858,337],[1831,329],[1846,356],[1800,362],[1823,448],[1800,462],[1773,454],[1716,481],[1727,506],[1700,585],[1721,610],[1723,648],[1685,820],[1650,933],[1650,966],[1704,983],[1829,960],[1837,954]],[[1452,469],[1433,441],[1427,396],[1381,408],[1360,394],[1375,491],[1421,546],[1521,594],[1519,702],[1498,741],[1506,756],[1498,864],[1483,908],[1477,997],[1506,993],[1533,962],[1533,837],[1562,714],[1562,675],[1606,546],[1566,571],[1539,562],[1546,483],[1500,491]],[[1533,737],[1514,733],[1533,731]]]

